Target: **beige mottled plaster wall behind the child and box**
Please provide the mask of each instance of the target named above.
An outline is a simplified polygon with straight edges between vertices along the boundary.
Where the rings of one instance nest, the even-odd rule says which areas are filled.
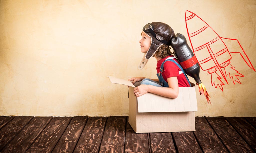
[[[1,0],[0,115],[128,115],[127,86],[106,75],[157,78],[153,58],[137,69],[142,27],[161,21],[188,38],[186,10],[221,37],[238,39],[256,68],[256,1],[157,2]],[[201,71],[212,105],[197,95],[197,116],[256,116],[256,72],[232,58],[242,84],[222,92]]]

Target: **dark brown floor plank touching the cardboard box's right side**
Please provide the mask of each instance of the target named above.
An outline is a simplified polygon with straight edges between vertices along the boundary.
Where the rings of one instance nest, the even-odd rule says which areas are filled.
[[[204,117],[196,117],[194,132],[203,152],[228,152]]]

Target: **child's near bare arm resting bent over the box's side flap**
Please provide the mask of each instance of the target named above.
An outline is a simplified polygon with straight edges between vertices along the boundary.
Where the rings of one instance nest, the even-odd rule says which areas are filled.
[[[162,88],[153,85],[142,84],[134,88],[134,95],[139,97],[145,93],[153,93],[168,98],[177,98],[179,94],[179,84],[176,76],[167,78],[169,88]]]

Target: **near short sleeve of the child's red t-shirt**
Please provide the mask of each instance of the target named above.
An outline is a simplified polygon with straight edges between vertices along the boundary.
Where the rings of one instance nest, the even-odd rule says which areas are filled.
[[[166,61],[164,63],[164,74],[166,78],[170,78],[173,76],[178,76],[180,68],[172,61]]]

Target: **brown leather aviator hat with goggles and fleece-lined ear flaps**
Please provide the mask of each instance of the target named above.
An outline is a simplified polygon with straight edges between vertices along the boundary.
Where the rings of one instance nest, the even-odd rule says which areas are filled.
[[[139,69],[143,69],[148,59],[150,59],[156,50],[163,44],[170,46],[171,39],[174,37],[173,29],[162,22],[148,23],[143,27],[143,31],[151,38],[151,46],[144,54],[140,62]]]

